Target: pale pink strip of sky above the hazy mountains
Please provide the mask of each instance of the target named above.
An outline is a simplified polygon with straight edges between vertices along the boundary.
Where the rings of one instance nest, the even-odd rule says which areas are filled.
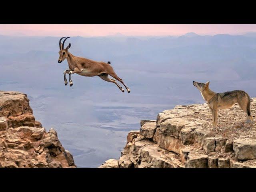
[[[244,34],[256,24],[0,24],[0,34],[15,36],[132,36]]]

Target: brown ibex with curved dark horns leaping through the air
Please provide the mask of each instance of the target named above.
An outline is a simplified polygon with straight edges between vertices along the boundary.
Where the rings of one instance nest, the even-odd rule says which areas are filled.
[[[112,82],[118,86],[118,88],[124,92],[124,89],[116,82],[116,80],[120,81],[124,87],[126,88],[127,92],[130,93],[130,89],[124,84],[123,80],[117,76],[117,74],[114,72],[112,66],[110,66],[110,62],[96,62],[90,59],[77,57],[72,55],[68,49],[70,48],[71,44],[68,44],[66,48],[64,48],[64,43],[67,40],[67,38],[64,39],[63,44],[61,43],[61,40],[65,38],[60,38],[60,57],[58,59],[58,63],[61,63],[65,59],[68,61],[68,70],[64,71],[64,82],[65,85],[68,84],[66,79],[66,74],[69,74],[69,84],[70,86],[73,85],[73,81],[71,80],[71,74],[77,73],[78,75],[86,76],[86,77],[93,77],[93,76],[99,76],[103,80],[107,82]],[[114,79],[110,79],[108,75],[112,76]]]

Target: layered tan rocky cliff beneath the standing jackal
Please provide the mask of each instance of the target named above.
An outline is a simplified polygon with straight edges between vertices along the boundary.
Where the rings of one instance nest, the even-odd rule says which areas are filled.
[[[255,109],[252,98],[254,118]],[[176,106],[140,124],[128,133],[119,160],[100,168],[256,168],[256,124],[246,122],[237,104],[218,111],[216,131],[207,104]]]

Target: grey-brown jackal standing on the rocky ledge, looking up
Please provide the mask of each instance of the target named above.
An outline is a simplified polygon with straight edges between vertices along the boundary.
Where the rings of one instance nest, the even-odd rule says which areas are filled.
[[[246,92],[234,90],[224,93],[215,93],[210,90],[209,83],[209,81],[206,82],[206,84],[193,81],[193,85],[201,92],[202,97],[212,112],[212,129],[218,126],[218,109],[232,108],[236,103],[246,112],[247,120],[252,121],[250,96]]]

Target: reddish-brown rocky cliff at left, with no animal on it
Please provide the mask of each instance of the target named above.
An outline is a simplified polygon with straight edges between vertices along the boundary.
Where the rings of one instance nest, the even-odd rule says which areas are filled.
[[[73,156],[36,121],[26,94],[0,91],[0,168],[75,168]]]

